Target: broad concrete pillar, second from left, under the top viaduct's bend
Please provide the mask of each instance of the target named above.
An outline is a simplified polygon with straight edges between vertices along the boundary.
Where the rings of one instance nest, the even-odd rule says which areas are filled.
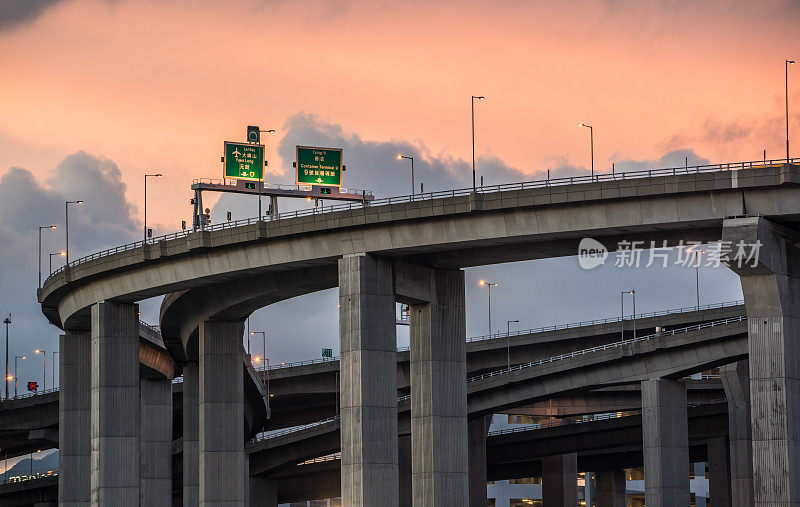
[[[139,505],[139,305],[92,305],[92,505]]]

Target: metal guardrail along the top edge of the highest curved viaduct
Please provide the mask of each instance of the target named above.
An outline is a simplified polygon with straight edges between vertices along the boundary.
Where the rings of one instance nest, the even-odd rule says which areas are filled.
[[[597,183],[603,181],[621,181],[621,180],[653,178],[653,177],[663,177],[663,176],[677,176],[683,174],[700,174],[700,173],[713,173],[713,172],[734,171],[734,170],[744,170],[744,169],[759,169],[764,167],[780,166],[784,163],[794,164],[795,162],[800,162],[800,158],[792,158],[788,160],[776,159],[776,160],[758,160],[749,162],[725,162],[721,164],[706,164],[706,165],[697,165],[688,167],[671,167],[663,169],[645,169],[641,171],[628,171],[628,172],[619,172],[611,174],[608,173],[595,174],[593,176],[591,175],[569,176],[565,178],[553,178],[547,180],[523,181],[519,183],[505,183],[501,185],[484,186],[484,187],[479,187],[479,192],[480,193],[502,192],[502,191],[525,190],[534,188],[560,187],[565,185],[573,185],[577,183]],[[471,193],[472,193],[472,188],[470,187],[470,188],[461,188],[455,190],[443,190],[439,192],[425,192],[420,194],[387,197],[383,199],[373,200],[370,203],[359,202],[359,203],[335,204],[332,206],[324,206],[320,208],[309,208],[303,210],[284,212],[278,214],[277,216],[264,215],[262,217],[243,218],[241,220],[236,220],[236,221],[221,222],[218,224],[208,226],[204,230],[214,231],[214,230],[230,229],[257,222],[270,222],[273,220],[297,218],[309,215],[319,215],[334,211],[366,209],[366,208],[372,208],[374,206],[385,206],[390,204],[403,204],[408,202],[419,202],[419,201],[440,199],[446,197],[457,197],[457,196],[469,195]],[[70,262],[69,266],[75,267],[79,264],[83,264],[84,262],[99,259],[107,255],[113,255],[121,252],[126,252],[128,250],[140,248],[145,244],[155,244],[160,241],[168,241],[171,239],[182,238],[188,235],[190,232],[191,231],[189,230],[176,231],[169,234],[164,234],[162,236],[148,238],[146,241],[145,240],[134,241],[133,243],[128,243],[126,245],[120,245],[114,248],[108,248],[106,250],[93,253],[91,255],[80,257]],[[50,278],[62,272],[65,268],[66,266],[61,266],[55,271],[53,271],[53,273],[51,273],[50,276],[48,276],[47,279],[45,280],[45,285],[47,284],[47,281]]]

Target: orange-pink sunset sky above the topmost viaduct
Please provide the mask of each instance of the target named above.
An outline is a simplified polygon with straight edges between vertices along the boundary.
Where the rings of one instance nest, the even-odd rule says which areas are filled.
[[[0,219],[60,224],[60,199],[84,199],[87,230],[123,224],[76,240],[91,253],[136,239],[142,175],[161,172],[148,220],[176,230],[190,221],[192,179],[220,177],[223,141],[243,140],[247,124],[277,130],[268,182],[294,181],[295,144],[330,141],[355,170],[347,186],[408,193],[397,149],[417,157],[426,190],[467,186],[471,95],[486,96],[476,154],[487,184],[587,173],[579,121],[594,126],[598,172],[780,158],[798,21],[793,0],[3,0]],[[789,101],[800,155],[800,65]],[[84,185],[90,173],[106,179]],[[52,218],[44,197],[17,190],[36,185]],[[35,225],[6,224],[0,240],[33,252]],[[35,262],[27,285],[4,269],[0,304],[13,306],[9,291],[35,288]]]

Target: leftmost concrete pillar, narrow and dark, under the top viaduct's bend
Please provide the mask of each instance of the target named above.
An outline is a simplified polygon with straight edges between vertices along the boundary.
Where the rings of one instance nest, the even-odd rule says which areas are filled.
[[[91,499],[92,347],[89,333],[61,335],[58,354],[58,501],[89,505]]]

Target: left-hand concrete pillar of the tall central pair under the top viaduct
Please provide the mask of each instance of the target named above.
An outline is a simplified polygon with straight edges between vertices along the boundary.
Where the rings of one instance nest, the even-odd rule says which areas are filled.
[[[391,262],[339,260],[342,505],[398,505],[397,338]],[[391,372],[391,374],[389,374]]]

